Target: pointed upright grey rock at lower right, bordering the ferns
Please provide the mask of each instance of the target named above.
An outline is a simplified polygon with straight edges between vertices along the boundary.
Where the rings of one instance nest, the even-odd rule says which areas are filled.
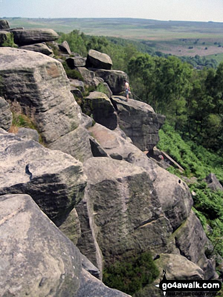
[[[191,210],[190,216],[182,226],[173,233],[176,247],[188,260],[201,267],[205,273],[205,279],[210,279],[215,274],[215,266],[205,256],[205,244],[207,237],[201,226],[201,222]]]

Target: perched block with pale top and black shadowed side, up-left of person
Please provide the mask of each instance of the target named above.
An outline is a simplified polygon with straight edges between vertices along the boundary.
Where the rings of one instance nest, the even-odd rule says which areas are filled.
[[[107,54],[90,50],[87,55],[86,65],[87,67],[110,70],[112,67],[112,60]]]

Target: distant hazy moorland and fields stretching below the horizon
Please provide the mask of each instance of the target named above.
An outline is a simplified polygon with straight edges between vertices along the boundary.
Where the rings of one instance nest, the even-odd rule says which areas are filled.
[[[78,29],[89,35],[144,41],[156,51],[176,56],[223,54],[223,23],[128,18],[8,18],[8,21],[11,27],[52,28],[60,32]]]

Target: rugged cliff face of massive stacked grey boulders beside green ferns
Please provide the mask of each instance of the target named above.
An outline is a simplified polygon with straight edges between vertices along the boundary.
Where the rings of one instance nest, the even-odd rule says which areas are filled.
[[[86,63],[100,67],[107,60],[111,66],[107,57],[102,56],[102,62],[100,57],[97,54],[97,63],[88,57]],[[105,79],[110,92],[117,93],[108,98],[94,92],[84,98],[83,111],[92,114],[93,125],[70,93],[59,61],[11,48],[0,48],[0,61],[1,100],[32,116],[45,146],[29,135],[24,139],[6,132],[11,121],[0,116],[5,129],[0,131],[0,209],[6,209],[0,214],[0,231],[14,238],[11,245],[8,239],[0,243],[3,261],[12,267],[7,274],[8,264],[0,271],[1,294],[22,296],[35,287],[36,296],[84,297],[90,291],[91,296],[127,296],[89,273],[102,279],[103,266],[124,258],[126,251],[150,251],[154,257],[162,253],[162,259],[174,259],[176,267],[185,263],[181,275],[188,278],[190,267],[200,279],[214,277],[189,188],[143,153],[158,142],[164,116],[117,95],[126,73],[82,65],[84,73],[88,71],[82,90]],[[7,106],[10,114],[7,104],[4,101],[4,110]],[[10,253],[20,258],[12,259]],[[160,260],[159,267],[168,270],[166,262]],[[20,277],[23,281],[15,289]],[[150,288],[145,296],[148,292]],[[151,294],[159,296],[154,290]]]

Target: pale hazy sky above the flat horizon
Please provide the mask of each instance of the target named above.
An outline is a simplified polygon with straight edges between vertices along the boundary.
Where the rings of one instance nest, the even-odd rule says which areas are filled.
[[[0,17],[223,22],[223,0],[0,0]]]

